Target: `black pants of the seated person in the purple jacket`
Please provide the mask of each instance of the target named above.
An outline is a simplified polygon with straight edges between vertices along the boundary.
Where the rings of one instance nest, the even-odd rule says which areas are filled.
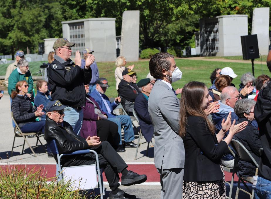
[[[100,141],[108,141],[113,148],[118,148],[120,143],[120,136],[118,134],[118,125],[109,120],[97,120],[97,136],[100,137]]]

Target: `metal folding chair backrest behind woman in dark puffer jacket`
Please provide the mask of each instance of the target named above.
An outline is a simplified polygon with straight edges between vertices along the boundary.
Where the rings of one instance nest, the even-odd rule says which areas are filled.
[[[253,161],[253,163],[258,168],[258,166],[259,166],[258,163],[255,161],[255,159],[252,157],[252,155],[249,153],[249,151],[244,147],[244,145],[242,143],[240,143],[238,140],[232,139],[231,146],[236,151],[240,160]]]

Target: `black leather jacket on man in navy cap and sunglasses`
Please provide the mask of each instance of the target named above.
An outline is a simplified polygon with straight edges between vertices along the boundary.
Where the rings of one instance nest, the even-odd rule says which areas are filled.
[[[84,150],[89,148],[87,141],[84,138],[77,136],[73,132],[72,126],[70,126],[69,123],[64,121],[62,127],[60,124],[51,120],[48,116],[46,117],[45,122],[44,139],[47,142],[55,139],[59,154],[72,153],[76,150]],[[67,166],[70,164],[70,162],[72,162],[72,160],[74,160],[74,158],[77,158],[77,156],[72,155],[63,157],[61,158],[61,164],[63,166]]]

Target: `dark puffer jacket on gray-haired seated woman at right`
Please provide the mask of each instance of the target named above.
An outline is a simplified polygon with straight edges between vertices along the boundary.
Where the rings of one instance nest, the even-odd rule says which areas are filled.
[[[260,133],[257,128],[252,126],[250,120],[245,118],[239,118],[236,124],[239,124],[243,121],[248,121],[248,126],[243,131],[240,131],[233,139],[238,140],[240,143],[244,145],[244,147],[249,151],[252,157],[259,164],[260,161],[260,148],[262,148]],[[239,160],[239,171],[237,173],[238,176],[244,177],[253,177],[255,175],[256,166],[252,161],[246,162]]]

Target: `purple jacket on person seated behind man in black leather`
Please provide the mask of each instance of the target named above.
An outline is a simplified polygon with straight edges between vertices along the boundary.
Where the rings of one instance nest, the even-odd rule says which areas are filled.
[[[98,103],[91,96],[87,96],[91,101],[95,103],[97,108],[101,111],[102,114],[106,115],[104,111],[101,110]],[[82,124],[82,128],[80,131],[80,136],[83,138],[87,138],[88,136],[97,136],[97,126],[96,121],[98,119],[98,115],[94,112],[94,105],[89,100],[86,100],[86,106],[82,107],[84,112],[84,120]]]

